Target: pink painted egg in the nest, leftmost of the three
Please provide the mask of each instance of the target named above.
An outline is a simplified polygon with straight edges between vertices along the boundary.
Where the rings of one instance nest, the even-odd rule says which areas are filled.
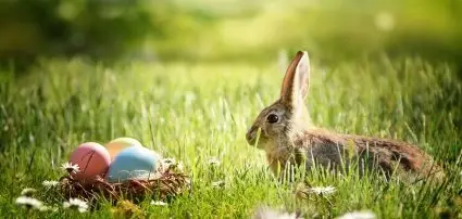
[[[99,143],[86,142],[71,154],[70,162],[78,165],[79,171],[73,177],[78,180],[91,180],[108,172],[111,157],[108,150]]]

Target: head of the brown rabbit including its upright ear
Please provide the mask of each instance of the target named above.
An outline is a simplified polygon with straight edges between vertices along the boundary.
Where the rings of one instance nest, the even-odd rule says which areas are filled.
[[[258,147],[277,143],[308,129],[310,116],[304,106],[309,90],[310,60],[299,51],[287,68],[279,99],[265,107],[246,134],[247,142]]]

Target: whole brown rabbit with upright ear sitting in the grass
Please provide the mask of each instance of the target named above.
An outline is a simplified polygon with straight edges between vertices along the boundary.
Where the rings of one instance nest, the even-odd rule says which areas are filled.
[[[310,61],[299,51],[284,77],[280,98],[264,108],[246,134],[249,144],[266,152],[272,171],[276,175],[288,165],[313,164],[324,168],[348,167],[358,160],[360,172],[365,168],[379,170],[387,178],[394,172],[407,179],[444,172],[419,147],[395,140],[341,134],[315,128],[303,100],[308,94]]]

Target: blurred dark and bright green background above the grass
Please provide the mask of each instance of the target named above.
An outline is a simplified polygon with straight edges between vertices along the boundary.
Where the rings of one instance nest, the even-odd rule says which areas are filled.
[[[462,61],[462,0],[1,0],[0,62]]]

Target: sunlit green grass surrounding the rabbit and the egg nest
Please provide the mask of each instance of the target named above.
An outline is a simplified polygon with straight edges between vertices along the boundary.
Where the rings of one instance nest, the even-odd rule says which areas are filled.
[[[42,189],[79,143],[133,137],[166,157],[183,160],[192,192],[168,207],[140,204],[149,218],[246,218],[259,205],[300,209],[307,218],[333,218],[370,209],[379,218],[462,217],[462,83],[445,64],[419,59],[314,65],[307,104],[314,123],[339,132],[397,138],[417,144],[446,168],[442,184],[384,183],[354,172],[314,170],[312,185],[333,185],[329,196],[296,198],[297,183],[280,183],[263,152],[245,132],[278,95],[277,66],[251,64],[89,64],[47,60],[26,76],[0,74],[0,215],[2,218],[105,218],[92,212],[26,211],[14,199],[24,188],[60,206]],[[216,157],[216,168],[208,164]],[[224,188],[212,182],[223,180]],[[298,178],[298,181],[303,179]]]

